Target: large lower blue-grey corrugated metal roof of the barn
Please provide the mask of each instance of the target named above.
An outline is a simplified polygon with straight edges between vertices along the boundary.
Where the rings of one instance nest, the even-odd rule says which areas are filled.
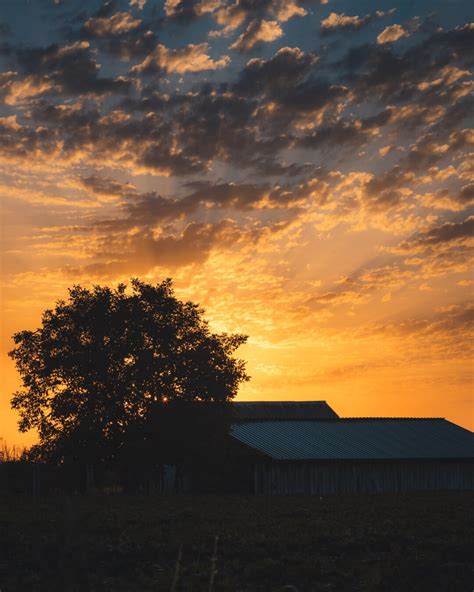
[[[474,457],[474,434],[445,419],[249,421],[231,435],[278,460]]]

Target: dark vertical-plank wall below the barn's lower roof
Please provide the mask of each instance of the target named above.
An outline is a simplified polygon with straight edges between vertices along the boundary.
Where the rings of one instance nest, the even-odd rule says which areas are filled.
[[[264,495],[472,490],[474,463],[440,461],[259,462],[254,491]]]

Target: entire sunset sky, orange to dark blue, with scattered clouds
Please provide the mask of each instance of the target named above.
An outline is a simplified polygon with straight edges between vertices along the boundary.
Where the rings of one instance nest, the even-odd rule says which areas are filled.
[[[473,12],[3,0],[0,436],[12,335],[132,277],[249,336],[241,400],[473,429]]]

